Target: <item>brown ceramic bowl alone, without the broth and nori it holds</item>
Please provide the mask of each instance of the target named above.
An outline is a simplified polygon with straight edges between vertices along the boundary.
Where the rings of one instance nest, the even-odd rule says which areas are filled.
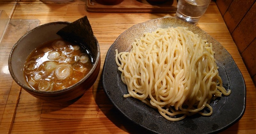
[[[52,22],[41,25],[29,31],[22,36],[20,40],[13,46],[9,57],[9,70],[13,80],[18,83],[24,90],[39,99],[49,101],[68,101],[76,99],[83,95],[85,91],[92,87],[96,81],[100,71],[100,46],[95,37],[95,44],[87,47],[97,50],[92,53],[95,63],[90,72],[84,76],[82,80],[71,87],[59,91],[37,91],[28,85],[23,68],[28,55],[42,43],[60,38],[56,33],[71,22]]]

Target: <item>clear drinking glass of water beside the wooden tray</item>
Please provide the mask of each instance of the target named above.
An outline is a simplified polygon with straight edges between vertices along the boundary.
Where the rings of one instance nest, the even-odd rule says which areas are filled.
[[[195,25],[200,17],[204,15],[210,2],[211,0],[179,0],[176,18]]]

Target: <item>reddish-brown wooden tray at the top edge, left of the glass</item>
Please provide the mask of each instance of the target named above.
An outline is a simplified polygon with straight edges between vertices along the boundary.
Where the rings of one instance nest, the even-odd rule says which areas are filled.
[[[177,0],[153,3],[147,0],[119,0],[119,3],[106,3],[103,0],[87,0],[88,12],[176,12]]]

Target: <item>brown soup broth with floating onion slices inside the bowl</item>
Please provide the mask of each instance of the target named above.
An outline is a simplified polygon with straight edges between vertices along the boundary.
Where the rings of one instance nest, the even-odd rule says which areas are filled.
[[[57,91],[79,82],[92,68],[92,57],[79,45],[57,39],[44,43],[28,56],[24,74],[39,91]]]

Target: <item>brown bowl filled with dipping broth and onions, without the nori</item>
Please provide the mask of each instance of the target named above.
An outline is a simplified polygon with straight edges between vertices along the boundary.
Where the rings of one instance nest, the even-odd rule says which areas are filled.
[[[95,44],[87,45],[87,50],[56,34],[70,23],[61,21],[38,26],[12,48],[8,63],[10,74],[36,98],[76,99],[92,87],[99,75],[100,46],[95,36]]]

